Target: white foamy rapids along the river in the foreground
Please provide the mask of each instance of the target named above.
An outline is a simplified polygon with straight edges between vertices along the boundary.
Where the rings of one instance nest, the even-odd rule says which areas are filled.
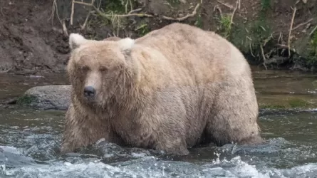
[[[306,164],[291,169],[256,167],[237,156],[230,160],[214,160],[207,164],[160,161],[142,157],[121,166],[94,160],[90,162],[53,162],[27,165],[14,169],[1,166],[1,177],[313,177],[317,164]]]

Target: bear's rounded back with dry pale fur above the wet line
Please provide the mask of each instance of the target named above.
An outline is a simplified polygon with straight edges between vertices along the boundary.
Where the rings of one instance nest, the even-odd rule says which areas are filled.
[[[137,38],[135,44],[162,53],[167,66],[161,72],[165,70],[167,73],[184,75],[180,80],[191,76],[195,80],[192,82],[204,83],[223,80],[228,75],[251,75],[249,64],[232,43],[217,33],[187,24],[172,23]],[[162,58],[155,60],[160,61]],[[159,63],[157,66],[164,65]]]

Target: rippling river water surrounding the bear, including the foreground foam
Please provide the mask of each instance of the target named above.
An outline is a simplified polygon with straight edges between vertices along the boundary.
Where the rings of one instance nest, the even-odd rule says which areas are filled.
[[[259,102],[301,95],[316,98],[314,75],[254,71]],[[64,75],[0,76],[0,99],[34,85],[64,84]],[[0,177],[317,177],[317,114],[261,110],[263,145],[194,148],[186,157],[123,148],[103,140],[80,153],[60,155],[65,111],[0,110]]]

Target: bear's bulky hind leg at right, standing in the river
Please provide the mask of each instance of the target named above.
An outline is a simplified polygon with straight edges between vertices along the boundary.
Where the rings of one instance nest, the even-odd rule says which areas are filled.
[[[257,123],[258,105],[253,85],[247,80],[219,87],[207,121],[208,137],[218,146],[263,142]]]

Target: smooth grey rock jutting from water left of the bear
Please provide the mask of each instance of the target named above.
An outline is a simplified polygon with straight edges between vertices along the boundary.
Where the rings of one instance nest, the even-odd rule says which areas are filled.
[[[46,85],[30,88],[18,104],[43,110],[67,110],[71,102],[71,85]]]

